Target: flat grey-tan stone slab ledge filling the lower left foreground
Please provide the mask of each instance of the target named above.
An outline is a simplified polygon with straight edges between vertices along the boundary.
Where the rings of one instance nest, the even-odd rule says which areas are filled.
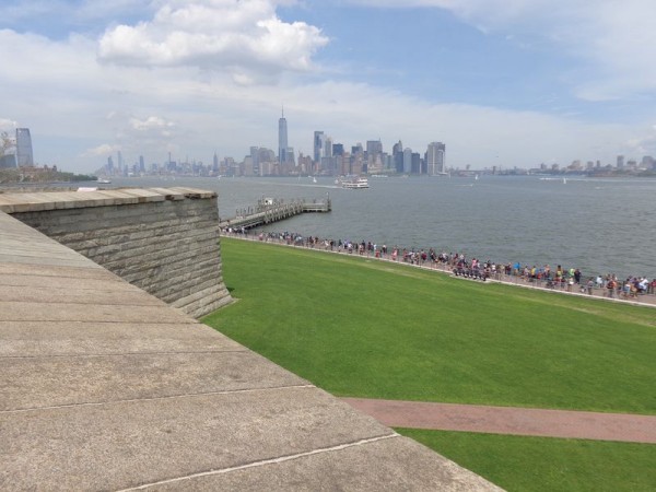
[[[2,212],[0,340],[3,491],[499,490]]]

